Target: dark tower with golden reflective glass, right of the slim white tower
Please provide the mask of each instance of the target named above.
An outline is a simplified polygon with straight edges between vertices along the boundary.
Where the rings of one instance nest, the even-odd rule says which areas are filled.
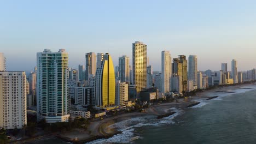
[[[182,91],[186,92],[188,88],[188,62],[186,56],[179,55],[178,58],[173,58],[173,73],[182,77]]]

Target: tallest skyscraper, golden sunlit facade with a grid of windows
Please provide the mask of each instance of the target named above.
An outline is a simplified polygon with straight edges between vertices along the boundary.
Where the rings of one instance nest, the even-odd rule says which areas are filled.
[[[133,85],[137,93],[147,88],[147,45],[140,41],[132,44]]]

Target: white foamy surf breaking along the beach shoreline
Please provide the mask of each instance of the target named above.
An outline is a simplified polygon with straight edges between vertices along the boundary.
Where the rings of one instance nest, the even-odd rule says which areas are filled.
[[[237,93],[245,93],[248,91],[252,91],[256,89],[256,86],[251,86],[248,88],[253,88],[253,89],[232,89],[231,92],[235,93],[217,93],[217,92],[212,92],[209,93],[209,96],[218,96],[218,98],[214,98],[212,100],[222,100],[223,97],[226,96],[231,96],[233,94]],[[196,101],[200,102],[200,104],[195,105],[190,108],[199,108],[202,106],[205,106],[208,103],[211,103],[212,100],[205,100],[205,99],[197,99]],[[95,140],[88,142],[89,144],[100,144],[100,143],[132,143],[131,138],[135,135],[135,128],[139,127],[144,127],[144,126],[155,126],[158,127],[159,125],[164,125],[164,124],[174,124],[175,122],[173,119],[182,113],[184,113],[183,110],[177,109],[175,107],[172,107],[170,109],[165,110],[165,112],[168,112],[169,110],[175,111],[171,116],[164,117],[162,119],[153,119],[152,117],[149,116],[144,116],[144,117],[135,117],[131,119],[127,119],[126,121],[118,122],[113,125],[110,125],[110,128],[116,128],[119,131],[122,131],[121,134],[114,135],[113,137],[110,137],[109,139],[100,139],[100,140]],[[139,139],[143,139],[143,137],[139,137]]]

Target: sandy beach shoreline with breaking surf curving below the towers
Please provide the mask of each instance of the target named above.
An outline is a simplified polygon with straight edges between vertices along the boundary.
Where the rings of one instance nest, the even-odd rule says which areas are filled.
[[[114,137],[115,135],[119,135],[123,133],[123,131],[113,127],[113,125],[118,124],[123,121],[129,121],[133,118],[144,118],[147,119],[157,119],[158,116],[162,119],[166,117],[171,117],[176,115],[174,109],[185,110],[190,109],[188,106],[198,103],[200,100],[207,100],[211,101],[212,99],[218,98],[218,94],[224,93],[225,91],[235,91],[240,87],[252,87],[252,83],[249,84],[242,84],[237,86],[226,86],[220,88],[213,88],[203,92],[197,92],[195,96],[189,97],[188,99],[178,99],[178,103],[176,101],[170,103],[162,103],[159,105],[153,105],[148,107],[144,110],[144,112],[131,112],[131,113],[124,113],[122,115],[117,115],[113,117],[104,118],[100,121],[92,121],[87,130],[74,130],[60,135],[54,135],[55,137],[65,140],[66,142],[73,142],[73,143],[92,143],[95,140],[99,139],[109,139],[110,137]],[[243,89],[243,88],[242,88]],[[244,88],[247,89],[247,88]],[[253,90],[255,88],[252,88]],[[216,92],[222,91],[222,92]],[[247,89],[250,91],[250,89]],[[226,93],[226,94],[235,94],[235,93]],[[195,106],[195,105],[193,105]],[[193,107],[191,106],[191,107]],[[167,119],[167,121],[170,121]],[[135,125],[136,123],[134,123]],[[74,138],[77,137],[78,141],[73,141]]]

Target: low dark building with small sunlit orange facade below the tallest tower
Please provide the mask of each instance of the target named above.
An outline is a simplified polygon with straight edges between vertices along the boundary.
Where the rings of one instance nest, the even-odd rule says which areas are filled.
[[[159,98],[159,90],[156,87],[147,88],[139,94],[141,101],[152,101]]]

